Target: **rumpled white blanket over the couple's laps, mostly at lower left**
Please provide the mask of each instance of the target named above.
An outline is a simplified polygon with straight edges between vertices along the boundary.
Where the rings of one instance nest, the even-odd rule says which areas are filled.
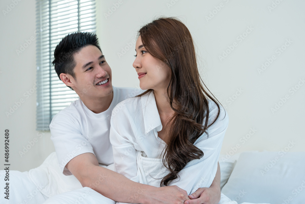
[[[106,167],[113,170],[113,165]],[[4,198],[5,171],[0,171],[1,204],[103,203],[115,204],[88,187],[82,187],[75,176],[65,176],[59,169],[56,153],[29,172],[9,172],[9,200]],[[48,199],[49,198],[49,199]],[[219,204],[237,204],[221,194]],[[249,204],[244,202],[242,204]]]

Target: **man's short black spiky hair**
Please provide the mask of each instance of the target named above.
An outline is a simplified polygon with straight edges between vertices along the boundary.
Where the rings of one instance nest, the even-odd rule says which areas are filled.
[[[70,74],[76,80],[74,73],[74,67],[76,66],[76,62],[73,56],[83,47],[88,45],[94,45],[102,52],[99,46],[99,40],[95,33],[70,33],[58,43],[54,50],[54,60],[52,62],[52,65],[54,65],[58,77],[61,73],[65,73]]]

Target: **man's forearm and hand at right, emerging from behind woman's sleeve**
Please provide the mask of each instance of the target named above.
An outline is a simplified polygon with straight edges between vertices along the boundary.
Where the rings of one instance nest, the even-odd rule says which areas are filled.
[[[197,191],[188,196],[184,204],[217,204],[220,201],[220,166],[218,162],[216,176],[209,188],[198,188]]]

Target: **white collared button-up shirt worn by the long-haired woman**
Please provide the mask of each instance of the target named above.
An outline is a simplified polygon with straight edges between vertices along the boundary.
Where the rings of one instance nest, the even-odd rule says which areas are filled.
[[[124,106],[111,117],[110,142],[113,145],[114,169],[127,178],[142,184],[160,187],[169,171],[162,163],[162,150],[166,143],[158,137],[162,124],[153,91],[142,97],[120,102]],[[218,108],[209,100],[209,123],[215,120]],[[205,120],[203,121],[204,124]],[[216,171],[224,134],[228,127],[228,113],[220,106],[220,115],[207,134],[194,143],[203,151],[203,157],[192,160],[178,173],[180,176],[169,185],[177,185],[188,192],[199,187],[210,187]]]

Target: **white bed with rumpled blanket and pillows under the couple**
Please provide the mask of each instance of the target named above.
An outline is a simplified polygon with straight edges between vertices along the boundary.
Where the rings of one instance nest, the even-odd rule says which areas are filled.
[[[226,195],[232,200],[226,202],[221,198],[221,203],[304,204],[304,161],[305,152],[252,151],[221,155],[221,192],[222,196]],[[107,168],[112,169],[113,165]],[[97,192],[83,188],[73,175],[64,176],[60,172],[55,152],[35,169],[28,172],[9,172],[9,200],[3,196],[6,186],[5,173],[0,171],[1,204],[38,204],[68,191],[74,192],[73,200],[70,198],[69,203],[107,203],[108,198],[101,202]],[[79,190],[72,191],[76,189]],[[87,196],[89,194],[91,197]],[[95,198],[99,200],[94,201]],[[64,202],[61,198],[53,199],[49,203]]]

